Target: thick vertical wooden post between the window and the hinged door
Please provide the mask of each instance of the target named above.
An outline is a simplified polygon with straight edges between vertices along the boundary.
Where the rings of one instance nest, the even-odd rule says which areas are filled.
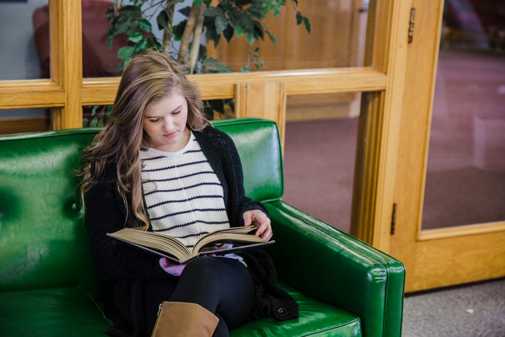
[[[372,246],[389,251],[399,121],[407,63],[407,27],[410,1],[376,4],[372,56],[374,67],[387,72],[386,90],[362,101],[360,131],[365,142],[357,149],[351,233]],[[368,106],[367,106],[368,105]],[[362,180],[362,181],[360,181]]]

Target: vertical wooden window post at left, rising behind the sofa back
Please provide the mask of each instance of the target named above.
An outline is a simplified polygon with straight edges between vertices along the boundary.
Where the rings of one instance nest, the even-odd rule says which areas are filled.
[[[52,109],[53,129],[82,127],[81,0],[49,2],[51,77],[65,90],[65,104]]]

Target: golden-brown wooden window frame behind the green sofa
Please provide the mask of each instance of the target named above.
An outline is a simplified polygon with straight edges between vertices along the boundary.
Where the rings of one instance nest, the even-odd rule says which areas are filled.
[[[237,86],[270,81],[283,82],[285,95],[367,92],[360,116],[351,233],[386,251],[410,5],[410,0],[370,3],[370,13],[375,13],[367,26],[367,37],[373,36],[367,38],[365,52],[370,67],[190,76],[205,100],[239,99]],[[65,129],[82,127],[82,106],[113,103],[119,77],[82,78],[81,20],[80,0],[49,0],[52,78],[0,81],[0,109],[51,108],[52,128]],[[285,103],[277,120],[281,134],[283,113]]]

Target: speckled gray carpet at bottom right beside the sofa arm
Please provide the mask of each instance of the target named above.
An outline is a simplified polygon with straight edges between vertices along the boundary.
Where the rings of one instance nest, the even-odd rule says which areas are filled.
[[[407,295],[403,337],[504,337],[505,278]]]

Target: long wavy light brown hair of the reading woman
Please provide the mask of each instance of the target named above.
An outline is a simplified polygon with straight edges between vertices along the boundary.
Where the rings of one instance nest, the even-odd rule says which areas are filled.
[[[86,192],[98,182],[106,164],[113,161],[117,188],[126,209],[131,209],[134,217],[143,223],[139,228],[147,230],[149,221],[142,200],[139,153],[141,148],[149,147],[149,136],[143,130],[146,109],[177,92],[184,96],[188,105],[187,126],[200,131],[209,124],[203,114],[198,87],[186,78],[186,73],[186,68],[171,57],[152,50],[128,64],[109,120],[83,151],[85,164],[79,171],[83,208]]]

